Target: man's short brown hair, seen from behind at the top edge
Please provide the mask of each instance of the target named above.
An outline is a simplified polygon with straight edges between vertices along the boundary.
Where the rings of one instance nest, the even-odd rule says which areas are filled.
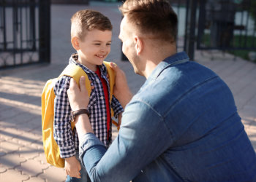
[[[154,39],[176,41],[178,18],[168,1],[127,0],[119,9],[140,33]]]

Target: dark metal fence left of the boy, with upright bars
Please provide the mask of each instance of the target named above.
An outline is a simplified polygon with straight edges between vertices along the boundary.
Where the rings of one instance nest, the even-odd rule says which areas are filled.
[[[0,1],[0,68],[50,62],[50,1]]]

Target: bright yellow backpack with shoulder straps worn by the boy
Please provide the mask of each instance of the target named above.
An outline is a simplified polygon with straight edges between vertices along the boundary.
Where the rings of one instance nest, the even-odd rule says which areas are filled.
[[[115,72],[110,68],[110,63],[104,61],[107,67],[109,84],[110,84],[110,103],[113,96],[113,86],[115,84]],[[53,87],[61,76],[71,76],[75,79],[75,82],[79,84],[80,76],[86,77],[86,89],[90,96],[91,84],[85,71],[75,64],[69,64],[58,78],[49,79],[42,91],[42,141],[45,151],[45,157],[50,165],[56,167],[64,167],[64,159],[60,157],[59,146],[53,138],[53,122],[54,122],[54,98],[56,97]],[[113,109],[111,108],[111,117],[113,116]],[[71,122],[70,122],[71,123]],[[113,121],[113,124],[116,123]],[[72,130],[75,127],[74,123],[71,123]]]

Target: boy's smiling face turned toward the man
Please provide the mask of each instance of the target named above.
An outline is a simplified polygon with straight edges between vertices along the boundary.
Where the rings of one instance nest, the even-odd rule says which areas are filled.
[[[110,53],[112,31],[88,31],[83,40],[79,41],[78,60],[91,71],[96,71],[97,65]]]

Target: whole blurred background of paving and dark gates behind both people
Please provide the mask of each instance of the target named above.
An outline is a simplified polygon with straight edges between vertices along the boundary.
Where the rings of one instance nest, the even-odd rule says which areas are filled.
[[[118,39],[122,1],[0,0],[0,181],[65,181],[63,168],[45,161],[41,93],[75,50],[70,18],[95,9],[113,24],[111,52],[135,94],[145,78],[134,74]],[[178,15],[178,52],[224,79],[256,150],[256,1],[170,0]],[[160,133],[159,133],[160,134]],[[113,138],[118,132],[113,127]]]

